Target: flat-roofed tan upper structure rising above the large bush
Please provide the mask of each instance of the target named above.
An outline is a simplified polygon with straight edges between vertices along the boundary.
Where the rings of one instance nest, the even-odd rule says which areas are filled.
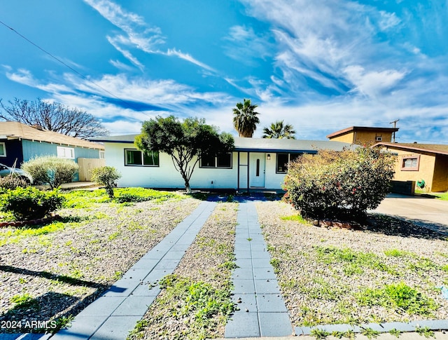
[[[351,126],[327,136],[329,140],[351,144],[372,144],[377,142],[391,142],[392,136],[398,128],[372,128],[367,126]]]

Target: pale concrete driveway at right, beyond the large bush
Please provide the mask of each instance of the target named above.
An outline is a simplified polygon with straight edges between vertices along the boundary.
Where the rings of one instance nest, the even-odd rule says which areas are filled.
[[[392,193],[375,210],[448,236],[448,201]]]

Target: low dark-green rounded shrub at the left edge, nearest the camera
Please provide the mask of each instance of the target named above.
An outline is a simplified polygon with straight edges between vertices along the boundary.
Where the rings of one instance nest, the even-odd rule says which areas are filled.
[[[62,207],[64,198],[57,190],[40,191],[31,186],[7,191],[1,197],[0,209],[11,212],[15,219],[40,219]]]

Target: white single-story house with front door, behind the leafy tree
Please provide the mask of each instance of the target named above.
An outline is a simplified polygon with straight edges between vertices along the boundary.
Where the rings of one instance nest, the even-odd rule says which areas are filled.
[[[106,165],[120,171],[118,186],[183,189],[185,183],[171,156],[146,155],[134,145],[136,135],[92,139],[105,147]],[[317,140],[275,140],[235,137],[235,150],[225,156],[203,156],[190,179],[191,189],[233,189],[236,191],[279,190],[288,162],[318,149],[342,151],[351,144]]]

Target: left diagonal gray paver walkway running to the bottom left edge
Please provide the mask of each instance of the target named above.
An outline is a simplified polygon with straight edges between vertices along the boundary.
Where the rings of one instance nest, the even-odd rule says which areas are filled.
[[[81,311],[69,329],[62,329],[51,339],[126,339],[160,293],[158,285],[152,287],[151,283],[174,271],[215,206],[201,203],[123,278]]]

